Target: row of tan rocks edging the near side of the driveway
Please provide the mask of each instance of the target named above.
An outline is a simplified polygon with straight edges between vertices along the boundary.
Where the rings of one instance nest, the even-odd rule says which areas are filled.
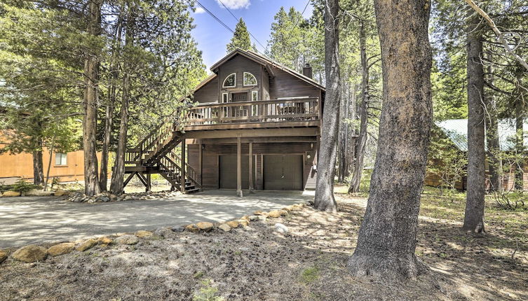
[[[261,221],[265,223],[268,218],[280,218],[287,216],[292,211],[302,210],[307,206],[305,202],[299,204],[292,204],[283,209],[271,211],[254,211],[251,216],[242,216],[239,219],[225,221],[222,223],[198,222],[189,225],[180,225],[172,228],[158,228],[154,232],[147,230],[137,230],[136,232],[115,233],[113,235],[104,235],[100,237],[92,237],[88,239],[77,239],[76,241],[60,241],[53,244],[28,244],[20,248],[0,250],[0,264],[5,262],[8,258],[20,262],[40,262],[46,260],[48,257],[56,257],[72,253],[73,251],[86,252],[95,246],[102,248],[111,245],[134,245],[140,242],[140,239],[163,239],[165,235],[172,232],[191,232],[191,233],[205,233],[214,230],[222,231],[221,233],[229,232],[236,228],[246,228],[252,222]],[[280,233],[287,232],[287,228],[282,224],[275,224],[276,230]],[[284,230],[285,228],[285,230]]]

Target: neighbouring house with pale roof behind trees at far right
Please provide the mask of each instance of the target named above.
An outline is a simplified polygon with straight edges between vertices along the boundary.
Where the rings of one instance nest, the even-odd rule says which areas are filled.
[[[439,132],[442,133],[443,137],[449,138],[449,141],[464,155],[467,155],[468,151],[468,120],[467,119],[451,119],[444,120],[438,123],[435,123],[435,127],[440,129]],[[524,146],[528,146],[528,135],[526,130],[528,130],[528,120],[524,120]],[[515,147],[515,119],[513,118],[504,118],[499,120],[499,146],[501,151],[510,152],[513,151]],[[431,137],[431,139],[438,139],[438,137]],[[524,163],[524,171],[528,170],[528,163]],[[486,162],[486,173],[489,173],[488,163]],[[489,178],[489,174],[488,174]],[[510,190],[513,189],[515,179],[515,167],[512,167],[509,172],[506,172],[503,176],[503,189]],[[528,189],[528,173],[524,172],[523,174],[524,190]],[[426,174],[427,186],[440,186],[441,180],[438,175],[435,174]],[[487,183],[489,186],[489,183]],[[456,188],[460,190],[466,190],[466,177],[464,176],[461,181],[456,183]]]

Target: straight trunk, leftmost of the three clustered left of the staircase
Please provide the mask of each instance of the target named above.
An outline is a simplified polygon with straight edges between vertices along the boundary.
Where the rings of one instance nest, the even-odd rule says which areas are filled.
[[[101,5],[102,1],[100,0],[90,0],[88,5],[88,33],[93,36],[98,36],[101,31]],[[84,193],[92,196],[101,192],[97,174],[97,148],[95,144],[99,63],[93,53],[86,54],[84,78],[86,85],[83,99]]]

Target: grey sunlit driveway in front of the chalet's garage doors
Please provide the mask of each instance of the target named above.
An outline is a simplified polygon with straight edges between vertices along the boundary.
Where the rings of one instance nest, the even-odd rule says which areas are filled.
[[[280,209],[313,200],[301,191],[258,191],[236,197],[233,190],[208,190],[158,200],[100,204],[72,203],[57,197],[0,198],[0,248],[72,240],[115,232],[219,222],[255,210]]]

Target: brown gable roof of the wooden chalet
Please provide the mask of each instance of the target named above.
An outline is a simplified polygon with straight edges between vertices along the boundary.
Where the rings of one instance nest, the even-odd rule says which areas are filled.
[[[258,64],[261,64],[262,66],[266,67],[266,70],[268,71],[270,76],[274,76],[272,67],[273,68],[277,68],[277,69],[285,71],[286,73],[290,73],[292,76],[295,76],[296,78],[299,78],[300,80],[303,80],[304,82],[309,83],[310,85],[313,85],[313,86],[317,87],[320,90],[326,91],[325,86],[320,85],[318,82],[316,82],[316,80],[313,80],[313,78],[309,78],[308,76],[304,76],[303,74],[301,74],[301,73],[299,73],[299,72],[297,72],[295,70],[292,70],[292,69],[288,68],[287,66],[283,66],[282,64],[279,64],[278,62],[274,62],[273,60],[269,59],[268,57],[265,57],[264,55],[261,55],[261,54],[259,54],[257,52],[253,52],[251,50],[247,50],[246,51],[246,50],[242,50],[240,48],[237,48],[237,49],[229,52],[229,54],[227,54],[225,57],[223,57],[218,62],[213,64],[211,66],[210,70],[213,73],[217,73],[218,67],[221,66],[222,64],[224,64],[225,62],[227,62],[229,59],[231,59],[235,55],[242,55],[243,57],[247,57],[248,59],[251,59],[252,61],[257,62]]]

